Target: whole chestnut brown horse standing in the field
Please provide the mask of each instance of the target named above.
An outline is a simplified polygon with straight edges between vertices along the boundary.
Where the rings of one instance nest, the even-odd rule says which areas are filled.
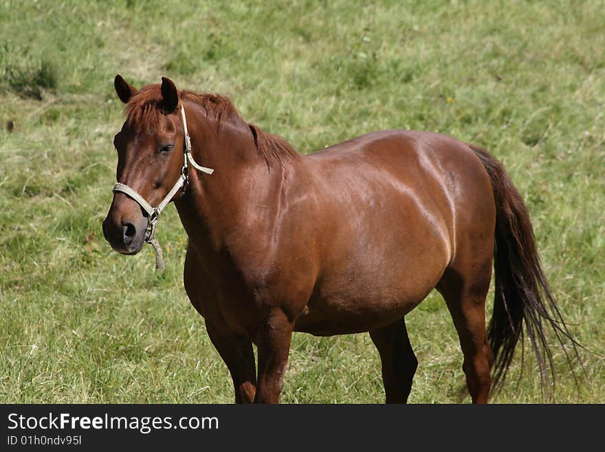
[[[506,376],[524,331],[542,374],[553,366],[544,325],[573,343],[521,197],[478,147],[388,130],[300,155],[222,96],[179,92],[167,78],[138,91],[121,76],[114,84],[127,117],[104,236],[133,255],[175,202],[189,237],[185,289],[236,402],[278,401],[294,331],[369,332],[386,402],[406,402],[417,359],[404,316],[433,288],[458,332],[473,402],[487,402],[492,367],[496,382]]]

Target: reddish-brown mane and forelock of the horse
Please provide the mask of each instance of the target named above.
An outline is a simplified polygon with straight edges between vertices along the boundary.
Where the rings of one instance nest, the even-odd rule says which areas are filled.
[[[228,97],[220,94],[191,91],[179,92],[181,100],[195,103],[202,107],[209,120],[216,122],[217,131],[222,122],[234,127],[248,127],[254,137],[254,144],[259,157],[271,168],[272,164],[283,164],[285,160],[296,155],[294,148],[283,138],[263,131],[256,125],[245,122]],[[136,92],[126,105],[126,121],[129,124],[144,124],[153,128],[162,114],[178,114],[178,111],[166,111],[162,101],[160,85],[147,85]]]

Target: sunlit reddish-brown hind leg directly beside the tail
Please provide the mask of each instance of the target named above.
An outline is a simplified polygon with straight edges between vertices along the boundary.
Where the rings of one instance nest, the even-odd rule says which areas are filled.
[[[485,331],[485,297],[492,276],[492,259],[445,271],[437,285],[448,305],[464,355],[463,371],[473,403],[487,403],[494,361]]]

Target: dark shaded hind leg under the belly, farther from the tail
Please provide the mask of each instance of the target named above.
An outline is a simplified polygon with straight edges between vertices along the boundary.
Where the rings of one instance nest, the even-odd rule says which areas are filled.
[[[386,403],[406,403],[412,389],[412,379],[418,367],[418,360],[408,338],[405,319],[380,330],[371,331],[370,337],[382,361]]]

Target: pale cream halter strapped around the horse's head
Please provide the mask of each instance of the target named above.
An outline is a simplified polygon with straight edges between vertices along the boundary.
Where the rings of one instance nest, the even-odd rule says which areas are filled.
[[[183,189],[183,193],[185,193],[185,190],[187,189],[188,185],[188,164],[191,164],[191,166],[203,173],[214,173],[213,169],[206,168],[206,166],[200,166],[195,162],[195,160],[193,160],[193,156],[191,155],[191,137],[189,136],[189,132],[187,131],[187,120],[185,118],[185,109],[183,105],[181,105],[181,117],[183,118],[183,129],[185,131],[185,145],[183,147],[183,168],[181,169],[181,175],[179,175],[177,182],[175,182],[173,188],[168,192],[168,195],[164,197],[162,202],[160,202],[157,207],[152,207],[151,204],[146,202],[144,197],[137,193],[137,191],[131,189],[128,185],[120,184],[120,182],[113,185],[113,193],[116,193],[118,191],[124,193],[132,200],[135,200],[147,213],[147,228],[145,229],[145,241],[146,243],[153,246],[153,249],[155,250],[155,268],[157,270],[164,270],[164,257],[162,256],[162,248],[159,246],[159,242],[155,238],[157,218],[159,217],[159,214],[162,213],[164,208],[166,208],[170,200],[173,199],[173,196],[177,194],[177,191]]]

